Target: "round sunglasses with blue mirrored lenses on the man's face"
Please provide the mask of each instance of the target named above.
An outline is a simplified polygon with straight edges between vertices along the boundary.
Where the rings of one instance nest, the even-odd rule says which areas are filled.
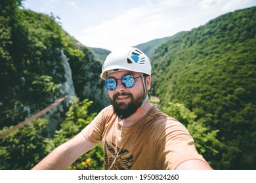
[[[140,76],[136,77],[139,78]],[[126,88],[133,88],[135,85],[135,79],[133,75],[124,75],[121,79],[107,78],[105,80],[105,86],[108,90],[115,90],[117,86],[117,80],[121,80],[121,83]]]

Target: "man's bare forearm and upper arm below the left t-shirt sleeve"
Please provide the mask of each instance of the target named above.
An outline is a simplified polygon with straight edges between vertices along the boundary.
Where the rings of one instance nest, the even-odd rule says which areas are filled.
[[[53,152],[40,161],[32,170],[63,170],[76,159],[95,146],[94,143],[77,134],[70,141],[58,146]]]

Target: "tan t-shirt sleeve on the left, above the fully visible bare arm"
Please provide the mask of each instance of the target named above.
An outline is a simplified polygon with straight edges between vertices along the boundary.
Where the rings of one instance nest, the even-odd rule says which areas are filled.
[[[98,113],[98,115],[94,118],[91,124],[87,125],[81,133],[85,137],[85,139],[93,142],[98,143],[102,139],[102,133],[104,131],[104,124],[106,123],[106,119],[104,115],[108,112],[109,107],[104,108],[103,110]]]

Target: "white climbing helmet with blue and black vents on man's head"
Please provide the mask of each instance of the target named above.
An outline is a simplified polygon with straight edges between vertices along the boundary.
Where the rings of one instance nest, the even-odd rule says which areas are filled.
[[[151,63],[146,54],[138,48],[121,48],[111,52],[102,65],[100,77],[106,80],[106,76],[116,71],[133,71],[151,75]]]

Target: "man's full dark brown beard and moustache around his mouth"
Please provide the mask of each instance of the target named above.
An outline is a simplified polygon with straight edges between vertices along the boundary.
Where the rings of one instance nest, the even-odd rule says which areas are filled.
[[[131,102],[126,103],[117,103],[116,99],[118,96],[129,95]],[[141,106],[144,99],[144,93],[140,94],[138,97],[133,97],[131,93],[116,93],[113,95],[113,99],[110,99],[112,106],[114,108],[114,113],[121,119],[129,118],[134,114],[138,108]]]

